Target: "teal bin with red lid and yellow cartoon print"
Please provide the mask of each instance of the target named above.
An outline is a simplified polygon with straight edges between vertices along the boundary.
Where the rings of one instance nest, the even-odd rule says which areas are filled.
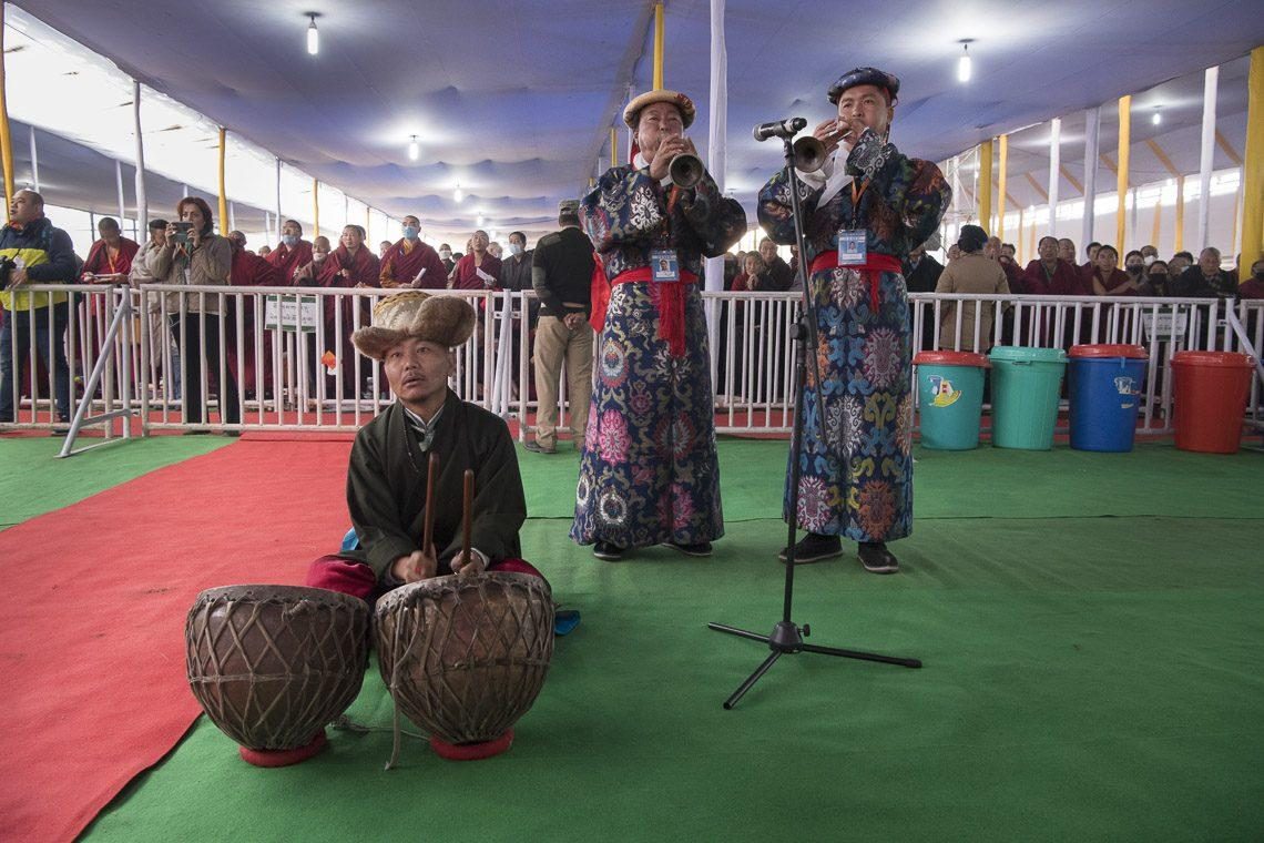
[[[921,351],[918,372],[921,445],[939,451],[978,447],[987,358],[972,351]]]

